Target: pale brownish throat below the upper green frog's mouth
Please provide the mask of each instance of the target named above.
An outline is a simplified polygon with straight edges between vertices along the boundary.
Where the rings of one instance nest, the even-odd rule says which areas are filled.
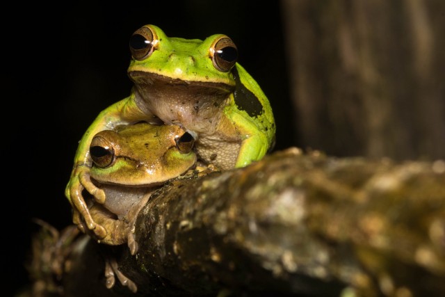
[[[211,134],[216,130],[234,86],[225,83],[182,81],[158,74],[131,72],[136,104],[167,124]]]

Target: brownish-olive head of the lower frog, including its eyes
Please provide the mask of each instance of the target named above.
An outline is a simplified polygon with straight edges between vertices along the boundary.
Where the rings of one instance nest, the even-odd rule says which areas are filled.
[[[194,141],[191,134],[176,125],[141,122],[100,131],[90,145],[90,176],[99,184],[162,184],[195,165]]]

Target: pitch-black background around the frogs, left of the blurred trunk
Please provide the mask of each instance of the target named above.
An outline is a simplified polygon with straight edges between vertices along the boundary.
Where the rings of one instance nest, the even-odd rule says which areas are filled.
[[[73,1],[48,7],[15,3],[3,11],[11,19],[2,26],[3,288],[12,294],[28,282],[25,264],[31,234],[38,230],[31,218],[59,230],[71,223],[64,191],[77,143],[99,111],[129,95],[129,37],[144,24],[156,24],[170,37],[229,35],[238,62],[275,111],[276,149],[296,144],[279,3]]]

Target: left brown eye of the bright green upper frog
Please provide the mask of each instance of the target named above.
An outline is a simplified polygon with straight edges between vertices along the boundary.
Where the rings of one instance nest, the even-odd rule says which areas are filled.
[[[139,61],[147,58],[156,48],[157,39],[156,33],[149,26],[136,30],[130,38],[131,56]]]

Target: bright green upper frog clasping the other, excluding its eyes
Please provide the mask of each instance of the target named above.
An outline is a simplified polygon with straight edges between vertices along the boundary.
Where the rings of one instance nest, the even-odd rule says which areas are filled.
[[[81,138],[65,195],[89,230],[104,230],[92,220],[81,195],[83,188],[99,203],[104,191],[90,181],[92,136],[116,125],[140,120],[184,127],[196,139],[200,161],[227,170],[257,161],[273,147],[275,120],[266,95],[250,74],[235,63],[227,72],[214,66],[213,46],[225,35],[205,40],[168,38],[161,29],[153,32],[154,51],[143,60],[131,59],[128,74],[134,86],[129,97],[99,113]]]

